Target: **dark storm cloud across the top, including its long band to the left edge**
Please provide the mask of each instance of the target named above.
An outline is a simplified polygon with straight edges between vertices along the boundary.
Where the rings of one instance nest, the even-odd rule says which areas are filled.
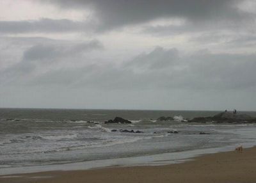
[[[40,0],[38,0],[40,1]],[[87,0],[40,1],[66,9],[90,10],[90,19],[0,21],[0,33],[63,33],[74,31],[107,31],[156,19],[184,19],[184,25],[147,26],[143,32],[156,35],[187,33],[208,29],[237,29],[254,23],[255,15],[237,8],[237,0]],[[246,25],[245,25],[246,24]],[[250,29],[255,31],[251,26]]]

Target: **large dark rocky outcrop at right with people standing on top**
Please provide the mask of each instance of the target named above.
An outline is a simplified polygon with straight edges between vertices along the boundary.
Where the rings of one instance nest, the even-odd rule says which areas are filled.
[[[198,117],[189,120],[188,122],[196,123],[206,123],[206,122],[215,122],[215,123],[256,123],[256,118],[246,114],[234,114],[230,112],[218,113],[214,116],[208,117]]]

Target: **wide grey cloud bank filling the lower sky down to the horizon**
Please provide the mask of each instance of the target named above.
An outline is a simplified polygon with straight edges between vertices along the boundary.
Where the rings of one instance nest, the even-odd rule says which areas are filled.
[[[65,61],[72,60],[68,57]],[[207,50],[184,54],[156,47],[123,63],[88,59],[86,64],[73,67],[43,64],[39,71],[44,72],[35,68],[31,72],[26,65],[38,61],[24,61],[22,67],[27,66],[28,72],[25,68],[20,72],[20,67],[0,72],[0,95],[6,99],[1,105],[12,106],[19,101],[24,107],[30,101],[28,107],[168,109],[171,105],[173,109],[220,109],[237,105],[253,109],[255,60],[256,54],[215,54]]]

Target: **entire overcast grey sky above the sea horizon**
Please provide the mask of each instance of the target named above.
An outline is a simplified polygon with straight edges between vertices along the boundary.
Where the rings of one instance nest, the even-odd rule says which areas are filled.
[[[256,110],[256,1],[0,0],[0,107]]]

